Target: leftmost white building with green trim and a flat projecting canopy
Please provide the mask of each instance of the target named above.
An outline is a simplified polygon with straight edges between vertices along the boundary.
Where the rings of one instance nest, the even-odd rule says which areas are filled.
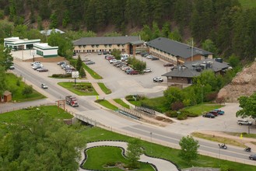
[[[40,39],[28,40],[19,39],[19,37],[8,37],[4,39],[4,46],[9,47],[12,50],[26,50],[33,49],[33,44],[40,43]]]

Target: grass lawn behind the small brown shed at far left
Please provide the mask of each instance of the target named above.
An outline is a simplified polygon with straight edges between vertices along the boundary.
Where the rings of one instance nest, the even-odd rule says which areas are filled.
[[[23,79],[16,77],[16,75],[13,75],[12,73],[6,73],[6,85],[8,85],[7,90],[9,90],[9,92],[12,92],[12,101],[26,102],[45,98],[44,95],[40,94],[34,89],[30,95],[23,95],[23,89],[26,86],[26,83],[23,82]]]

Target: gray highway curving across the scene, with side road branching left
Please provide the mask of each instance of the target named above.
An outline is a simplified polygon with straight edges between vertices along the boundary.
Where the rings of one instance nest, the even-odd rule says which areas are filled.
[[[33,102],[14,103],[12,105],[2,106],[1,110],[8,110],[12,108],[35,106],[38,103],[53,103],[58,99],[64,99],[65,96],[74,95],[72,92],[58,86],[60,79],[51,79],[41,76],[38,72],[31,71],[31,68],[24,67],[22,62],[16,62],[16,69],[12,72],[18,76],[23,77],[23,81],[33,85],[34,89],[47,96],[47,99],[41,99]],[[61,79],[65,81],[65,79]],[[46,83],[48,89],[40,89],[40,83]],[[79,107],[68,107],[74,113],[79,113],[92,120],[96,120],[102,127],[109,130],[121,132],[123,134],[131,135],[133,137],[142,138],[146,141],[152,141],[157,144],[167,145],[173,148],[179,148],[178,142],[180,139],[188,134],[184,130],[189,128],[192,131],[192,121],[188,120],[187,124],[170,124],[168,127],[158,127],[153,124],[146,124],[140,120],[133,120],[131,118],[120,117],[117,113],[104,110],[102,107],[93,102],[95,97],[92,96],[76,96],[79,100]],[[201,119],[201,118],[200,118]],[[205,119],[205,118],[204,118]],[[209,121],[211,122],[211,121]],[[190,127],[188,125],[190,124]],[[198,139],[198,138],[197,138]],[[244,152],[243,148],[228,145],[228,149],[219,149],[217,142],[205,141],[198,139],[199,152],[204,155],[213,156],[219,159],[227,159],[236,162],[243,162],[256,166],[255,161],[248,159],[248,152]]]

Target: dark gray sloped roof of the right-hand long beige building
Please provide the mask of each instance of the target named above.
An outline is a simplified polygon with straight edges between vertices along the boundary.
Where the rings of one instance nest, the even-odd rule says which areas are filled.
[[[149,47],[154,47],[160,51],[166,52],[167,54],[173,54],[174,56],[180,56],[182,58],[191,57],[191,46],[164,37],[159,37],[154,40],[151,40],[148,43],[146,43],[146,45]],[[193,56],[195,54],[202,54],[204,56],[208,56],[212,53],[209,51],[204,51],[197,47],[193,47]]]

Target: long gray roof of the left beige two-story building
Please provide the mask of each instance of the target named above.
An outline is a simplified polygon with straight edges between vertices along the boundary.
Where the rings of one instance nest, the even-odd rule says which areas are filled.
[[[91,44],[127,44],[129,42],[138,41],[138,37],[82,37],[74,40],[75,46],[91,45]]]

